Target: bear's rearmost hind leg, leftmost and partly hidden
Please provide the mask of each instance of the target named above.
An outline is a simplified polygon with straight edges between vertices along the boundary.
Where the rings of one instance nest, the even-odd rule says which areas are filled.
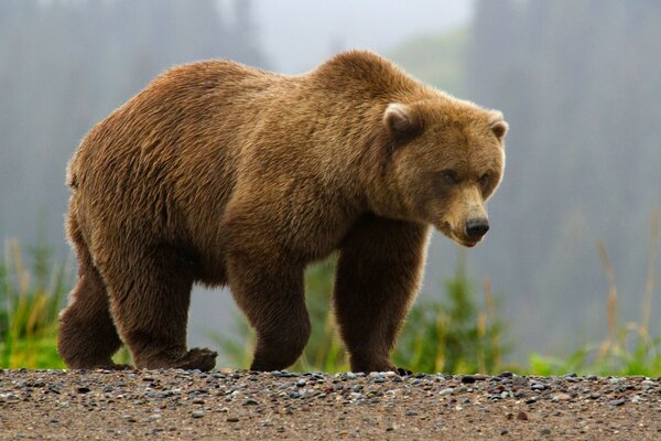
[[[104,280],[73,216],[68,220],[68,233],[78,256],[78,281],[68,306],[59,314],[57,351],[69,368],[126,368],[112,362],[121,341],[108,310]]]

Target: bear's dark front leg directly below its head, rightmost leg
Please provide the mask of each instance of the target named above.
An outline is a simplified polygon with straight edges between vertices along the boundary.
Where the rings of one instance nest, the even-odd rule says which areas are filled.
[[[370,215],[347,236],[334,300],[351,370],[398,370],[390,353],[420,288],[429,232],[425,225]]]

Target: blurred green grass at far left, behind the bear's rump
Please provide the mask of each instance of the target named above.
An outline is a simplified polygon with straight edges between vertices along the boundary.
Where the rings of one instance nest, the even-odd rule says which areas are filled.
[[[57,354],[57,314],[71,283],[71,266],[53,262],[40,240],[26,267],[18,241],[0,265],[0,367],[64,367]]]

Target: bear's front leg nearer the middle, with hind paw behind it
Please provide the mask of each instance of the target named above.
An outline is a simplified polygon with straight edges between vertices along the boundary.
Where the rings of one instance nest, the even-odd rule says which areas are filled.
[[[280,370],[296,362],[310,338],[303,267],[254,249],[257,255],[230,254],[229,284],[257,333],[250,369]]]

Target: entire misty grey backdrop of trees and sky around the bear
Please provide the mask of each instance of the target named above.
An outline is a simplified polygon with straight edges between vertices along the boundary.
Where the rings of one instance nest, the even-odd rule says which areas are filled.
[[[603,240],[619,319],[640,319],[661,206],[654,0],[0,0],[0,238],[46,237],[71,256],[66,162],[163,69],[227,57],[301,73],[354,47],[498,108],[510,123],[491,230],[467,252],[435,234],[422,295],[441,295],[465,252],[478,292],[489,277],[500,299],[513,358],[566,354],[606,334]],[[226,291],[196,289],[189,340],[229,332],[235,314]]]

